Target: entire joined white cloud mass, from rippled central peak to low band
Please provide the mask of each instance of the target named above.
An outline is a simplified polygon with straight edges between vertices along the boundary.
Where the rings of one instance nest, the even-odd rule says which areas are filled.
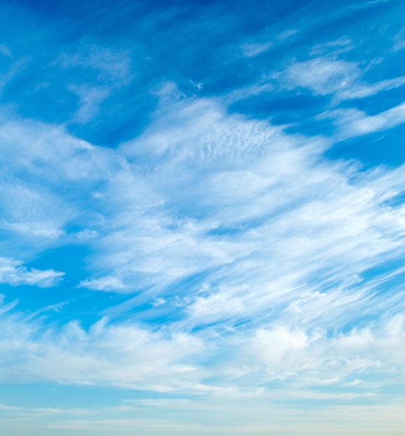
[[[323,157],[328,139],[229,115],[215,99],[160,99],[118,150],[38,123],[3,126],[10,187],[24,173],[43,204],[68,204],[47,213],[53,246],[91,249],[75,292],[131,295],[105,309],[114,322],[89,329],[7,315],[1,331],[18,340],[1,340],[3,380],[196,394],[281,380],[346,383],[353,395],[374,374],[403,382],[405,357],[388,350],[404,348],[404,167],[360,171]],[[8,222],[39,213],[15,210]],[[18,283],[63,274],[7,265]]]

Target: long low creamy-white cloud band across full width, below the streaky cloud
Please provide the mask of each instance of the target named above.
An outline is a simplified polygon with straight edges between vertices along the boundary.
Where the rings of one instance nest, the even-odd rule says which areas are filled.
[[[135,322],[110,324],[105,319],[88,330],[78,322],[54,329],[15,310],[10,313],[10,307],[2,309],[0,380],[8,382],[100,384],[237,398],[254,392],[270,395],[263,387],[280,380],[292,389],[284,395],[316,398],[323,394],[317,389],[347,385],[346,394],[356,398],[374,395],[376,383],[405,381],[398,371],[405,359],[404,314],[346,333],[279,322],[207,335],[178,332],[174,326],[152,332]],[[333,390],[324,394],[328,392],[330,399],[339,395]]]

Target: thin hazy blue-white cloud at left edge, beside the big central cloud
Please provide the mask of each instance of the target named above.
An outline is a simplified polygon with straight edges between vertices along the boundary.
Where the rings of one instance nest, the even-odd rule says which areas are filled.
[[[26,258],[64,243],[72,221],[82,224],[77,238],[95,237],[91,227],[104,218],[91,203],[109,189],[112,177],[128,172],[123,159],[61,127],[31,120],[1,120],[0,139],[0,159],[10,162],[1,168],[0,228],[8,235],[1,242],[3,252]],[[82,212],[85,204],[91,212]],[[21,235],[24,244],[15,243]]]

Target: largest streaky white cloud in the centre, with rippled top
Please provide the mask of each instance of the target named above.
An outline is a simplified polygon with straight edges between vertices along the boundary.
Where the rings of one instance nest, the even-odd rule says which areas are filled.
[[[194,110],[197,113],[194,105],[198,107],[198,118],[193,115]],[[178,119],[173,115],[176,111]],[[165,199],[168,210],[175,212],[176,205],[189,204],[192,198],[183,212],[188,219],[168,219],[165,225],[172,230],[160,234],[157,245],[143,244],[142,259],[152,249],[151,254],[155,251],[158,258],[165,258],[165,263],[160,264],[162,271],[170,270],[171,259],[176,259],[178,267],[190,261],[193,268],[200,265],[204,269],[201,260],[196,262],[201,257],[193,256],[201,256],[205,247],[209,247],[211,260],[207,258],[206,267],[228,265],[226,276],[234,274],[234,279],[240,277],[238,271],[245,271],[244,262],[254,268],[266,259],[269,273],[263,270],[263,276],[258,276],[263,277],[264,283],[268,275],[274,274],[270,273],[273,270],[277,274],[273,280],[283,273],[289,277],[284,265],[290,263],[296,265],[295,272],[310,274],[313,267],[307,262],[332,269],[343,265],[342,259],[344,262],[349,253],[348,260],[353,265],[352,256],[371,260],[372,252],[379,256],[385,249],[393,249],[390,238],[385,236],[381,243],[365,248],[367,241],[379,234],[374,230],[379,221],[390,218],[381,215],[372,190],[346,182],[353,171],[350,166],[316,161],[322,147],[322,143],[316,142],[298,147],[296,139],[280,130],[224,116],[208,102],[179,103],[167,118],[158,120],[143,137],[123,148],[130,159],[135,154],[135,162],[148,159],[158,162],[156,170],[145,173],[145,177],[148,186]],[[194,162],[199,162],[198,179],[194,176]],[[139,171],[136,165],[135,171]],[[201,213],[197,221],[194,214]],[[397,218],[392,219],[392,225],[399,231]],[[255,221],[257,224],[253,224]],[[385,226],[382,221],[381,225]],[[157,236],[161,230],[155,227],[153,231]],[[232,233],[232,238],[228,238],[227,232]],[[156,238],[154,244],[155,241]],[[111,249],[115,243],[109,239],[107,246]],[[134,253],[137,244],[136,240],[130,244]],[[182,247],[187,247],[184,251],[187,256],[181,254]],[[129,256],[130,252],[125,257]],[[339,256],[341,259],[337,260]],[[246,260],[238,261],[239,257]],[[155,256],[154,265],[156,260]],[[186,267],[183,271],[184,274],[195,270]],[[256,283],[254,288],[263,283]]]

